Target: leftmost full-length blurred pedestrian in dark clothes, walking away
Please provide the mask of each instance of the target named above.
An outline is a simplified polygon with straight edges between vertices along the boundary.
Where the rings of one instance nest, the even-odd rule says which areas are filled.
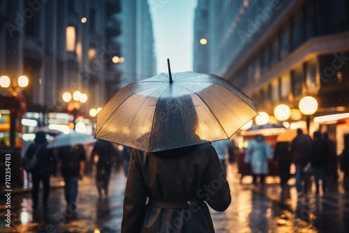
[[[27,158],[36,156],[36,165],[31,173],[31,180],[33,182],[33,189],[31,190],[31,198],[33,201],[33,209],[38,206],[38,193],[40,188],[40,181],[43,183],[43,207],[45,210],[48,208],[48,198],[50,195],[50,167],[52,161],[55,160],[54,153],[50,149],[47,149],[46,133],[38,131],[34,143],[32,143],[27,152],[24,155],[24,161]]]

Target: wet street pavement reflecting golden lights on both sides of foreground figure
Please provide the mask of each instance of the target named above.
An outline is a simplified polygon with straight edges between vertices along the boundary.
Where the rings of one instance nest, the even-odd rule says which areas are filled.
[[[224,212],[211,210],[216,232],[349,232],[349,188],[330,182],[324,195],[315,190],[297,197],[295,180],[282,190],[279,179],[268,177],[264,186],[253,186],[251,177],[240,182],[235,165],[228,165],[232,204]],[[61,187],[54,178],[54,186]],[[28,192],[11,196],[11,227],[4,216],[8,208],[1,197],[0,232],[120,232],[126,178],[112,173],[110,195],[98,198],[94,176],[80,181],[77,210],[66,209],[63,188],[52,188],[50,209],[31,208]],[[3,194],[1,194],[2,196]]]

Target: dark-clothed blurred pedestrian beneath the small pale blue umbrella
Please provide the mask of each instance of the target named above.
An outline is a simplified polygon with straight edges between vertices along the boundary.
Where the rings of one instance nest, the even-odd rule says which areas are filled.
[[[64,178],[64,197],[67,209],[76,209],[78,181],[84,176],[86,153],[81,144],[59,147],[57,156],[61,159],[61,174]]]

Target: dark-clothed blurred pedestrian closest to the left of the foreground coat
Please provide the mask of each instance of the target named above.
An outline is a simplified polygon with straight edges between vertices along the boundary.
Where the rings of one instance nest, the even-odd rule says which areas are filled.
[[[117,150],[112,142],[98,140],[92,150],[92,157],[96,158],[96,186],[99,197],[107,197],[110,180],[112,158],[116,158]],[[103,195],[104,192],[104,195]]]

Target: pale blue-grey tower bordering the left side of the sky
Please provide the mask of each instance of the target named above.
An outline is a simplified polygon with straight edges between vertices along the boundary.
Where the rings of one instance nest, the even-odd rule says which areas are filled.
[[[156,75],[154,32],[148,1],[121,0],[121,88]]]

